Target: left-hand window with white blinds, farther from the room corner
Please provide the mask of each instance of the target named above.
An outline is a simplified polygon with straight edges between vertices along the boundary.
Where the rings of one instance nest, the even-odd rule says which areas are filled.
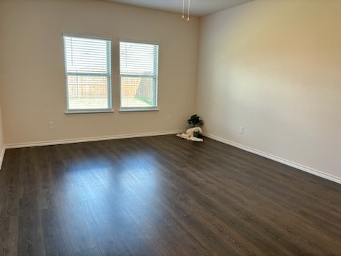
[[[112,110],[111,42],[64,36],[67,112]]]

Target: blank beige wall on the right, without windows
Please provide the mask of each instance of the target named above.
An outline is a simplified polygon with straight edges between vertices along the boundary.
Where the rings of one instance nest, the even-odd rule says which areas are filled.
[[[202,18],[205,131],[341,178],[340,11],[337,0],[256,0]]]

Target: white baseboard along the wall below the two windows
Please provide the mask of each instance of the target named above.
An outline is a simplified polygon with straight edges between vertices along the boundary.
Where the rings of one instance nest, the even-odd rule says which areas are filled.
[[[104,137],[88,137],[88,138],[80,138],[80,139],[61,139],[61,140],[52,140],[52,141],[43,141],[43,142],[28,142],[21,144],[5,144],[5,149],[18,149],[23,147],[31,147],[31,146],[50,146],[50,145],[58,145],[58,144],[72,144],[72,143],[81,143],[81,142],[98,142],[110,139],[129,139],[129,138],[137,138],[137,137],[151,137],[151,136],[160,136],[160,135],[169,135],[169,134],[177,134],[181,133],[183,130],[179,131],[168,131],[168,132],[147,132],[147,133],[139,133],[139,134],[121,134],[114,136],[104,136]]]

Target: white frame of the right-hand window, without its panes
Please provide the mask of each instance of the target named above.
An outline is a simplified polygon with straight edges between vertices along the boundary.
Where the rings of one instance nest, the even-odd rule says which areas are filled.
[[[156,63],[154,63],[154,74],[155,75],[121,75],[121,48],[120,43],[126,42],[126,43],[144,43],[151,46],[158,46],[158,55],[159,55],[159,44],[156,42],[146,42],[146,41],[136,41],[136,40],[130,40],[130,39],[119,39],[119,112],[145,112],[145,111],[158,111],[158,55],[156,55]],[[124,78],[153,78],[156,81],[155,85],[155,106],[151,107],[122,107],[122,100],[121,100],[121,77]]]

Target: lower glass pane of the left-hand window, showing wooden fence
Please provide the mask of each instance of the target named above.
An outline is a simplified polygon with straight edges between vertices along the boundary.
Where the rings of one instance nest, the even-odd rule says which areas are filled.
[[[69,109],[87,110],[108,107],[107,77],[67,76]]]

